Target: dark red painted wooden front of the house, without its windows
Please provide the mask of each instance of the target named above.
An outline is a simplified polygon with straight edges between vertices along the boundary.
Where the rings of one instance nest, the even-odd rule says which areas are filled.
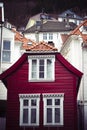
[[[56,130],[77,130],[77,82],[82,73],[73,68],[60,54],[56,54],[54,82],[28,82],[27,55],[9,70],[0,75],[7,89],[6,130],[23,130],[19,126],[19,94],[24,93],[64,93],[64,126]],[[69,66],[67,66],[69,65]],[[54,130],[43,126],[43,102],[40,101],[40,126],[25,130]]]

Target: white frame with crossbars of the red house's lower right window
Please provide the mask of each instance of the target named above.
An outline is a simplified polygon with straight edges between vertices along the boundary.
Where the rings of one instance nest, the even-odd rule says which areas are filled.
[[[47,99],[52,99],[52,106],[47,106]],[[56,105],[54,105],[54,101],[55,99],[60,99],[60,106],[56,107]],[[64,93],[59,93],[59,94],[43,94],[43,124],[44,126],[63,126],[64,122],[63,122],[63,101],[64,101]],[[52,122],[48,123],[47,122],[47,108],[52,108]],[[54,114],[54,110],[55,108],[60,108],[60,122],[55,123],[55,114]]]

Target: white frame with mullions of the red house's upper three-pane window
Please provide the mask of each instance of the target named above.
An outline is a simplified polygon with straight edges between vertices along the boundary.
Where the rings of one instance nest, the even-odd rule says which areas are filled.
[[[32,78],[32,60],[35,59],[37,60],[37,76],[36,78]],[[39,78],[39,60],[44,59],[45,65],[44,65],[44,78]],[[51,60],[51,77],[47,77],[47,60]],[[28,56],[28,62],[29,62],[29,78],[28,80],[30,82],[36,82],[36,81],[54,81],[55,80],[55,55],[33,55],[33,56]]]

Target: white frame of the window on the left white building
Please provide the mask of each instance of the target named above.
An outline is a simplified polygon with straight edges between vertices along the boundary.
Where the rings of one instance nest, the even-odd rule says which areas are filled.
[[[10,49],[4,49],[4,42],[5,41],[7,41],[7,42],[9,42],[10,43]],[[3,56],[4,56],[4,53],[5,52],[8,52],[9,53],[9,60],[4,60],[3,58]],[[6,55],[6,54],[5,54]],[[8,40],[8,39],[5,39],[5,40],[3,40],[3,46],[2,46],[2,62],[10,62],[10,60],[11,60],[11,41],[10,40]]]

